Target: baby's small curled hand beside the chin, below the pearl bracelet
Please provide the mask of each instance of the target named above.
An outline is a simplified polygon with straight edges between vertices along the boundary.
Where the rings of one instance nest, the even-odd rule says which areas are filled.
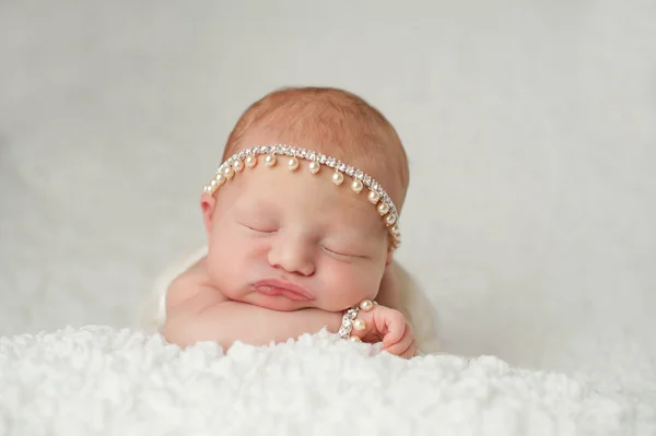
[[[358,330],[364,321],[364,328]],[[353,321],[351,337],[358,337],[363,342],[375,343],[383,341],[383,350],[400,357],[410,358],[417,352],[412,326],[403,314],[389,307],[374,304],[368,311],[360,310]]]

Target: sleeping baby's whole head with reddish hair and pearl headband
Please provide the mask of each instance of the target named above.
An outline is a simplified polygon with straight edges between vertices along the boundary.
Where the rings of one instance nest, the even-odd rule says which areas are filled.
[[[295,149],[262,148],[273,144]],[[376,296],[409,178],[380,113],[341,90],[277,91],[242,115],[223,160],[201,197],[212,285],[276,310],[339,311]]]

